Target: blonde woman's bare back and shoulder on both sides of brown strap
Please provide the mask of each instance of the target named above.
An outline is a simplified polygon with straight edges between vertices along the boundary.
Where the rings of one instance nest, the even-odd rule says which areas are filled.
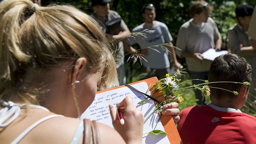
[[[21,132],[25,131],[30,125],[34,124],[39,119],[54,115],[54,113],[35,111],[36,113],[28,113],[27,116],[14,121],[0,133],[0,139],[3,144],[11,143]],[[74,134],[81,120],[71,117],[53,117],[32,129],[19,144],[37,143],[37,144],[69,144],[74,137]],[[113,128],[97,123],[100,140],[102,144],[107,143],[125,143],[121,135]],[[3,139],[2,139],[3,138]],[[1,144],[2,144],[1,142]],[[78,142],[82,144],[83,134]]]

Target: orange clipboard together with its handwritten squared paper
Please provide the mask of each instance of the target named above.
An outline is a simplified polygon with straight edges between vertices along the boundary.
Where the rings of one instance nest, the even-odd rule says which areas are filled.
[[[157,78],[152,77],[152,78],[135,82],[129,85],[136,88],[140,92],[150,95],[150,91],[148,91],[148,86],[154,84],[156,81],[157,81]],[[97,92],[92,104],[82,114],[81,119],[87,118],[90,120],[96,120],[99,123],[107,124],[108,126],[113,128],[108,105],[113,104],[114,106],[116,106],[116,104],[122,101],[124,97],[126,97],[127,95],[132,97],[133,104],[136,106],[136,108],[142,111],[144,117],[146,118],[155,109],[156,103],[153,100],[149,100],[143,104],[138,104],[139,101],[145,98],[145,96],[140,92],[132,90],[124,85],[111,88],[108,90],[104,90],[104,91],[99,91]],[[153,97],[156,97],[160,94],[161,93],[155,93]],[[159,119],[159,115],[157,112],[155,112],[151,116],[149,116],[148,119],[144,122],[143,133],[146,133],[146,134],[143,134],[142,143],[180,144],[181,143],[180,136],[176,129],[176,125],[172,120],[172,116],[162,115],[161,120],[156,125],[156,123],[158,122],[158,119]],[[164,131],[167,133],[167,135],[148,134],[148,132],[153,130]]]

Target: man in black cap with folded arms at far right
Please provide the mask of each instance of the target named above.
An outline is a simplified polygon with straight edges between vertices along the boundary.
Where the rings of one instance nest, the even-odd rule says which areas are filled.
[[[251,37],[247,35],[254,7],[252,5],[240,5],[236,8],[237,25],[227,33],[227,48],[231,53],[244,57],[252,65],[252,82],[250,93],[256,95],[256,49],[252,48]],[[254,101],[251,95],[248,99]],[[246,103],[247,104],[247,103]],[[249,105],[249,104],[247,104]]]

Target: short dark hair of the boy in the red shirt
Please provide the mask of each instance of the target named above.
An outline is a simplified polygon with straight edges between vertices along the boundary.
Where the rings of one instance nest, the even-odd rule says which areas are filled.
[[[252,66],[243,58],[233,53],[220,55],[215,58],[211,64],[209,71],[209,83],[211,82],[251,82],[252,80]],[[217,99],[229,97],[235,99],[236,95],[232,92],[240,92],[242,84],[236,83],[212,83],[208,84],[210,87],[217,87],[229,90],[221,90],[211,88],[211,96]],[[248,89],[249,90],[249,87]]]

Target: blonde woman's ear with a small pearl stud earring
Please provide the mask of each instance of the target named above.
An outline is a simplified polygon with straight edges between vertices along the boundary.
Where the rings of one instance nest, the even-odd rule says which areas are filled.
[[[82,81],[82,79],[79,79],[79,77],[82,75],[82,71],[84,71],[86,65],[86,59],[85,58],[79,58],[76,60],[76,64],[74,67],[74,73],[72,74],[72,84],[75,87],[75,84],[78,83],[78,81]]]

